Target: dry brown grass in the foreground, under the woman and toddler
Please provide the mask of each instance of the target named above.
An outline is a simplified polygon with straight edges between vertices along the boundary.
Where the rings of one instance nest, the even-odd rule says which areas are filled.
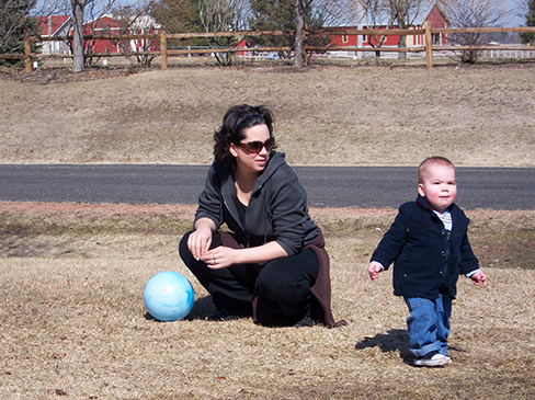
[[[0,204],[2,399],[533,399],[533,212],[474,210],[487,289],[459,282],[454,364],[408,365],[406,306],[366,265],[395,210],[312,209],[348,327],[207,322],[206,292],[177,253],[192,206]],[[523,247],[508,237],[525,232]],[[519,233],[520,235],[520,233]],[[524,235],[524,233],[522,233]],[[490,267],[489,264],[493,266]],[[160,271],[189,277],[192,319],[146,318]]]

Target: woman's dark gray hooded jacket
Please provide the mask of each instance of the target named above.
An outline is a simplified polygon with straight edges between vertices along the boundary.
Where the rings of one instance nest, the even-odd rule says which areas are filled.
[[[272,151],[265,169],[259,174],[243,226],[236,199],[231,167],[214,161],[198,197],[195,221],[209,218],[217,229],[227,224],[243,247],[276,240],[288,255],[298,253],[318,236],[318,227],[308,215],[306,192],[283,152]]]

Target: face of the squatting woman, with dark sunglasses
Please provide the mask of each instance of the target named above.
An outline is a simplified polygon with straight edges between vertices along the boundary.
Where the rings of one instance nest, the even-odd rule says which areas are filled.
[[[266,125],[254,125],[243,130],[244,138],[239,145],[231,144],[230,153],[236,158],[236,168],[243,173],[261,172],[264,170],[273,139]],[[259,150],[259,147],[262,148]]]

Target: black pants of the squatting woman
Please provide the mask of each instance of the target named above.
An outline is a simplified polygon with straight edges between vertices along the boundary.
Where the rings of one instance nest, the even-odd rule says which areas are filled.
[[[250,316],[254,288],[270,299],[275,309],[288,317],[305,315],[310,308],[311,293],[319,272],[318,258],[310,249],[295,255],[269,261],[263,266],[236,264],[227,268],[212,270],[206,263],[193,258],[187,249],[187,238],[180,241],[180,255],[204,288],[212,295],[218,310]],[[215,233],[210,249],[221,245]]]

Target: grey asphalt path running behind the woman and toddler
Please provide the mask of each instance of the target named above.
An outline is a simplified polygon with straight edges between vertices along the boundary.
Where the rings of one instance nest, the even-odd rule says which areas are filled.
[[[0,164],[1,202],[196,204],[207,165]],[[397,208],[417,195],[412,167],[294,167],[309,207]],[[534,168],[457,168],[465,209],[535,209]]]

